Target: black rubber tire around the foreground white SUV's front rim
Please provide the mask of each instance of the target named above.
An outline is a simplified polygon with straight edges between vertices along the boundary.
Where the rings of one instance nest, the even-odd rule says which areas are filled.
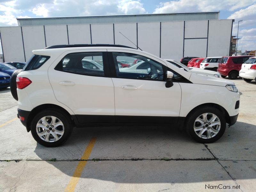
[[[216,115],[220,120],[220,130],[219,130],[219,132],[216,135],[214,135],[212,138],[208,138],[208,139],[204,139],[204,138],[199,137],[196,134],[196,132],[194,131],[194,124],[196,123],[196,118],[199,117],[200,115],[204,114],[204,113],[212,113],[212,114]],[[194,110],[192,113],[189,114],[189,116],[187,118],[187,122],[188,122],[187,132],[190,134],[190,136],[194,140],[196,140],[199,143],[212,143],[214,141],[217,141],[218,139],[220,139],[220,137],[223,135],[223,133],[225,132],[225,129],[226,129],[226,120],[225,120],[225,117],[224,117],[223,113],[220,110],[218,110],[216,108],[213,108],[213,107],[210,107],[210,106],[209,107],[202,107],[202,108],[198,108],[198,109]],[[207,125],[207,126],[209,127],[209,125]],[[204,129],[205,130],[207,129],[206,125],[205,125]],[[206,132],[206,131],[204,131],[204,132]],[[208,134],[208,133],[205,133],[205,134]]]

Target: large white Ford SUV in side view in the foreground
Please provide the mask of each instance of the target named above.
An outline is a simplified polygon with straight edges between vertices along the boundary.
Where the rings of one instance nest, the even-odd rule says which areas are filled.
[[[18,117],[41,145],[54,147],[73,127],[163,125],[198,142],[218,140],[238,116],[240,95],[228,80],[197,75],[122,45],[55,45],[33,51],[17,81]],[[140,59],[148,73],[126,72],[117,60]],[[103,61],[102,68],[84,60]],[[12,85],[13,86],[13,85]]]

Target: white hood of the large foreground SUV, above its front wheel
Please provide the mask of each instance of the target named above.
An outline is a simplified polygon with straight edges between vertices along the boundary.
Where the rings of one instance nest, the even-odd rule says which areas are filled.
[[[216,86],[224,86],[224,87],[226,85],[235,85],[235,83],[227,79],[197,75],[195,73],[191,74],[189,81],[191,81],[194,84],[216,85]]]

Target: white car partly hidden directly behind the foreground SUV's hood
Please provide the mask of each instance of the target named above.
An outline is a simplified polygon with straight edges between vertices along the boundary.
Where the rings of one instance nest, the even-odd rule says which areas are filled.
[[[205,75],[205,76],[210,76],[210,77],[221,78],[220,73],[217,71],[204,70],[204,69],[200,69],[200,68],[196,68],[196,67],[187,67],[186,65],[182,64],[179,61],[172,60],[172,59],[166,59],[166,60],[178,68],[184,68],[184,70],[190,70],[190,72],[198,74],[198,75]]]

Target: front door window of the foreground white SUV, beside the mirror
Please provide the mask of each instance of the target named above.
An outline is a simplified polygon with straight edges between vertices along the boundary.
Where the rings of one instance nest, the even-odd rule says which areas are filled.
[[[113,52],[112,54],[117,77],[156,81],[164,80],[164,66],[161,63],[158,63],[157,61],[149,59],[147,57],[132,53]],[[139,62],[127,68],[119,68],[119,60],[125,60],[128,63],[132,63],[134,60],[139,60]]]

